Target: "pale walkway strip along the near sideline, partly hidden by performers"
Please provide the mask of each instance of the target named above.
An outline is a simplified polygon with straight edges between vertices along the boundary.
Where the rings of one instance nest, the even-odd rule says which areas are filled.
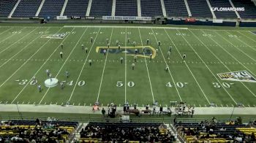
[[[106,110],[108,107],[104,107]],[[140,108],[140,107],[139,107]],[[60,105],[29,105],[29,104],[0,104],[0,112],[51,112],[51,113],[81,113],[101,114],[100,111],[93,112],[89,106],[60,106]],[[102,109],[102,107],[100,107]],[[141,109],[145,109],[142,107]],[[234,112],[233,112],[234,109]],[[122,113],[123,108],[117,107],[117,112]],[[164,107],[164,111],[166,108]],[[174,108],[172,109],[174,111]],[[107,111],[108,112],[108,111]],[[256,107],[195,107],[195,115],[256,115]]]

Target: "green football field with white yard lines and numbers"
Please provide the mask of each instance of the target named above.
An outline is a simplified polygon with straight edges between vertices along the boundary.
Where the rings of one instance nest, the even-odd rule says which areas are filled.
[[[68,25],[0,26],[1,104],[256,107],[256,29]]]

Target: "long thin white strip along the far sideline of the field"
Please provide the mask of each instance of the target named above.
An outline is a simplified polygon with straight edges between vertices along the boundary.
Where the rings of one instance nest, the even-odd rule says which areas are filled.
[[[92,27],[92,28],[113,28],[113,26],[64,26],[64,27],[75,27],[75,28],[82,28],[82,27]],[[170,29],[188,29],[182,27],[152,27],[152,26],[115,26],[115,28],[170,28]]]

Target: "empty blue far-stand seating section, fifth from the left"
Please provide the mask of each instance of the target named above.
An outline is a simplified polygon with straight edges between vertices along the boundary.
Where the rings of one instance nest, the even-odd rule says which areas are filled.
[[[112,4],[112,0],[93,0],[91,2],[90,16],[111,16]]]

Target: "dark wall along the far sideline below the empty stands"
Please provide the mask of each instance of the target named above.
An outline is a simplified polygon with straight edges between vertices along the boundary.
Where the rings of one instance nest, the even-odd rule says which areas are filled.
[[[152,18],[151,20],[103,20],[102,18],[50,19],[45,18],[0,18],[0,23],[140,23],[140,24],[172,24],[194,26],[238,26],[256,27],[256,20],[212,20],[196,18]]]

